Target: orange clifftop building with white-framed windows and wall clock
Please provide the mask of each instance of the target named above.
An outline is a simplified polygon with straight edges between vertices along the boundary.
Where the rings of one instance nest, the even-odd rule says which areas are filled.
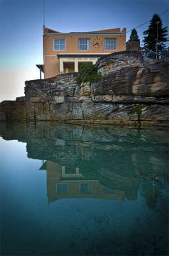
[[[36,66],[49,78],[78,72],[86,61],[96,63],[101,56],[125,49],[126,28],[70,33],[44,28],[43,65]]]

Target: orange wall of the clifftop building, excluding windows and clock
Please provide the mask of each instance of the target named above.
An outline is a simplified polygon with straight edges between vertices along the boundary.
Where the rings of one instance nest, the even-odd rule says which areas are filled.
[[[111,33],[111,34],[107,34]],[[66,41],[66,49],[64,51],[55,51],[53,49],[54,38],[64,38]],[[90,38],[91,39],[91,49],[90,50],[78,50],[78,38]],[[117,49],[115,50],[105,50],[105,38],[117,38]],[[94,41],[95,40],[95,41]],[[100,47],[98,45],[93,45],[96,40],[100,40],[102,44]],[[43,54],[44,54],[44,74],[45,78],[57,76],[62,70],[60,70],[59,54],[110,54],[116,51],[125,51],[126,49],[126,28],[122,31],[120,28],[117,29],[107,29],[102,31],[93,31],[89,34],[84,33],[52,33],[50,29],[44,29],[43,35]],[[67,57],[68,58],[68,57]],[[72,58],[72,57],[70,57]],[[79,58],[82,58],[80,56]],[[91,57],[92,58],[92,57]],[[95,58],[96,59],[96,58]],[[67,60],[69,61],[69,60]],[[70,60],[71,61],[71,60]],[[92,60],[91,60],[92,61]],[[95,60],[94,60],[95,61]],[[74,60],[73,60],[74,62]],[[96,61],[95,61],[96,62]],[[64,63],[64,67],[68,67]],[[65,72],[63,68],[63,72]],[[75,67],[71,66],[69,72],[77,72]]]

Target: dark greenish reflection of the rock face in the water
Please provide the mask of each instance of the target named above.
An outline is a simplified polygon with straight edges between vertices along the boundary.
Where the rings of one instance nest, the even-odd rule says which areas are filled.
[[[96,179],[107,188],[125,191],[129,200],[135,200],[141,188],[150,207],[160,196],[160,186],[155,189],[152,178],[168,182],[165,130],[138,132],[105,126],[16,122],[7,123],[1,136],[5,140],[26,142],[30,158],[70,168],[78,166],[85,179]]]

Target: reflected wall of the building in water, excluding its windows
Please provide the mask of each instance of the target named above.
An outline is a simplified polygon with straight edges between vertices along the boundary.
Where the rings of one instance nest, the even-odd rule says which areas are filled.
[[[50,202],[50,198],[105,198],[110,200],[124,200],[124,191],[118,191],[112,189],[112,191],[107,191],[105,186],[101,185],[99,180],[97,179],[90,179],[86,180],[83,175],[75,175],[75,166],[71,166],[71,173],[68,177],[64,180],[61,178],[65,178],[62,176],[62,168],[67,166],[61,166],[58,163],[47,161],[47,196],[48,202]],[[78,168],[79,169],[79,168]],[[70,176],[70,177],[69,177]],[[80,179],[78,179],[78,177]],[[67,184],[67,192],[66,193],[57,193],[56,186],[57,184]],[[80,192],[80,184],[87,184],[89,185],[89,191]]]

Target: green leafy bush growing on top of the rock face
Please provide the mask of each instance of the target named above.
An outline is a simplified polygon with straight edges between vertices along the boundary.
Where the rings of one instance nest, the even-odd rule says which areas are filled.
[[[101,73],[98,73],[98,67],[96,64],[92,64],[92,62],[84,63],[78,72],[77,76],[77,84],[81,84],[84,82],[96,82],[101,79]]]

